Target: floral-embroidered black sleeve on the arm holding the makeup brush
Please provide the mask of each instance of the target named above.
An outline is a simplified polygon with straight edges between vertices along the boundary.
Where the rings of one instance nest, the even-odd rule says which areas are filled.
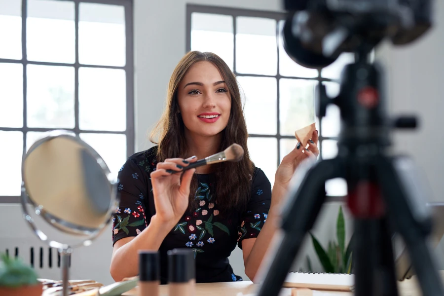
[[[132,157],[120,168],[117,187],[120,203],[112,219],[112,245],[121,238],[138,235],[147,227],[145,175],[137,159]]]

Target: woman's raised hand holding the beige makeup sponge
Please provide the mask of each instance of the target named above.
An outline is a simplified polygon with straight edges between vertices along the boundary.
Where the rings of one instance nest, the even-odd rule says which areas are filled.
[[[302,161],[308,157],[316,160],[319,155],[318,138],[318,131],[316,130],[313,132],[311,140],[308,141],[308,148],[301,147],[301,144],[298,142],[296,147],[282,159],[276,171],[273,186],[273,190],[278,189],[283,191],[282,194],[279,195],[287,192],[290,180]]]

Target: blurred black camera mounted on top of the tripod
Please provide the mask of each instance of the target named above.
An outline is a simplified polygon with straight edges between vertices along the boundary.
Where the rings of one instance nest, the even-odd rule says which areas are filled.
[[[298,64],[319,69],[342,52],[367,55],[383,39],[408,44],[432,25],[432,0],[284,0],[284,48]]]

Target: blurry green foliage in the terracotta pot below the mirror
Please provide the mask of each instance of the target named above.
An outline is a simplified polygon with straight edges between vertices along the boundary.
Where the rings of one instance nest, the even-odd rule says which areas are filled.
[[[18,288],[37,284],[37,273],[21,259],[1,255],[0,287]]]

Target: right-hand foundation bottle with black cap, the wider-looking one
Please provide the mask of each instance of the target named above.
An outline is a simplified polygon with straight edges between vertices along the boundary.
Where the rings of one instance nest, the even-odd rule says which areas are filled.
[[[168,255],[169,296],[194,296],[196,265],[191,250],[173,249]]]

